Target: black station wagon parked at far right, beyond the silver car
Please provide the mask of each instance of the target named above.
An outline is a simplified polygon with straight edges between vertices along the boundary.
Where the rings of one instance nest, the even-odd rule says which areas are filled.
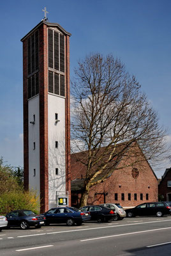
[[[161,217],[165,214],[171,214],[171,207],[166,202],[151,202],[137,205],[135,208],[126,209],[127,217],[152,216]]]

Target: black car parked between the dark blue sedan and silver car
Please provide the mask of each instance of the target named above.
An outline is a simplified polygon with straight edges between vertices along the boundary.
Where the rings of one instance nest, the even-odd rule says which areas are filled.
[[[87,205],[81,207],[80,210],[90,212],[91,220],[97,220],[98,222],[112,220],[116,215],[114,210],[111,210],[103,205]]]

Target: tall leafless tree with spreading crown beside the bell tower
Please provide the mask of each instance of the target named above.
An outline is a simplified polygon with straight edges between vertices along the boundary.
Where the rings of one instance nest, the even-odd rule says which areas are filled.
[[[72,146],[77,152],[85,150],[79,159],[86,166],[81,200],[85,205],[89,189],[107,179],[123,155],[129,158],[136,154],[135,162],[142,160],[137,144],[147,160],[163,158],[165,129],[160,127],[158,114],[140,91],[135,76],[130,76],[112,55],[91,54],[78,62],[72,90]],[[131,156],[130,151],[126,155],[130,146]]]

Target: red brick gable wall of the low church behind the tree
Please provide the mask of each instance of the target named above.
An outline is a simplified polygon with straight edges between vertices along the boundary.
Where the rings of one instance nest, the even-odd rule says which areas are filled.
[[[158,201],[158,181],[149,164],[144,162],[137,168],[139,171],[137,179],[131,175],[132,167],[115,170],[107,180],[91,188],[88,204],[101,204],[104,196],[95,196],[95,193],[107,193],[106,203],[119,203],[123,207]],[[115,193],[117,193],[117,201],[115,200]],[[121,200],[121,193],[124,193],[124,200]],[[128,193],[131,193],[131,200],[128,200]],[[134,200],[134,193],[137,193],[137,200]],[[140,200],[140,193],[143,194],[143,200]],[[149,195],[149,200],[146,200],[146,194]]]

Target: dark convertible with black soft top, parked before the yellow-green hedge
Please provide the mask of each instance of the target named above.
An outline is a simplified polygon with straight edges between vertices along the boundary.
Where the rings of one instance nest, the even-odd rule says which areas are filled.
[[[40,228],[45,225],[45,216],[35,214],[30,210],[16,210],[6,215],[8,227],[20,227],[27,229],[29,227]]]

